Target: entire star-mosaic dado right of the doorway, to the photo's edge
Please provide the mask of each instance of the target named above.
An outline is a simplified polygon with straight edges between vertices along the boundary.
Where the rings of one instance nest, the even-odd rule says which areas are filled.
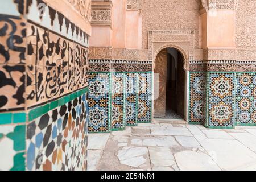
[[[189,122],[210,128],[256,126],[255,88],[255,72],[191,72]]]

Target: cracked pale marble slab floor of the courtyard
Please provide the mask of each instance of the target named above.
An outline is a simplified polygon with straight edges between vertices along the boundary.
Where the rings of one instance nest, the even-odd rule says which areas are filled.
[[[206,129],[166,123],[89,134],[92,170],[256,170],[256,127]]]

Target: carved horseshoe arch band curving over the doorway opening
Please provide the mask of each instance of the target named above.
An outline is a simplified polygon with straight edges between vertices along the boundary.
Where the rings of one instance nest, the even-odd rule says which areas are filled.
[[[179,51],[181,53],[182,57],[183,57],[183,68],[185,69],[185,71],[188,71],[189,60],[188,60],[187,53],[184,51],[183,48],[181,48],[181,47],[179,47],[179,46],[177,46],[175,44],[170,44],[170,43],[163,44],[163,46],[159,47],[154,52],[154,56],[153,56],[153,60],[154,60],[153,69],[155,69],[155,59],[156,59],[156,57],[158,56],[159,52],[162,51],[165,48],[174,48],[177,51]]]

